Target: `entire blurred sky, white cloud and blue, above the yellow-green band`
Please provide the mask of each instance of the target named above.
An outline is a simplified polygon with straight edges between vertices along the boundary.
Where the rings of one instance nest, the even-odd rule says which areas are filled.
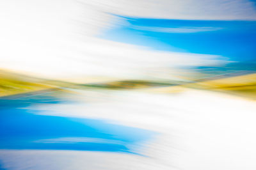
[[[33,76],[133,79],[255,61],[255,1],[3,1],[0,13],[0,68]]]

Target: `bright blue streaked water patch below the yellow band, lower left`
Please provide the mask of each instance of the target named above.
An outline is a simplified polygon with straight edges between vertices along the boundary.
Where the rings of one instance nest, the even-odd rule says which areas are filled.
[[[2,98],[1,149],[91,150],[134,153],[132,146],[154,132],[106,123],[103,120],[36,114],[28,105],[68,103],[54,92]]]

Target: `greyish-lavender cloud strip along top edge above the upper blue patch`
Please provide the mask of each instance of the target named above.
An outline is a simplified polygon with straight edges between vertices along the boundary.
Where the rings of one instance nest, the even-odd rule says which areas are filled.
[[[188,20],[256,19],[255,6],[248,0],[84,0],[83,2],[103,12],[132,17]]]

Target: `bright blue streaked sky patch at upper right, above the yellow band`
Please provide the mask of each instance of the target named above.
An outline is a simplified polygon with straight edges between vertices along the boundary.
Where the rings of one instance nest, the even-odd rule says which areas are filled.
[[[100,38],[154,50],[214,54],[231,61],[256,61],[256,22],[121,17],[125,24]]]

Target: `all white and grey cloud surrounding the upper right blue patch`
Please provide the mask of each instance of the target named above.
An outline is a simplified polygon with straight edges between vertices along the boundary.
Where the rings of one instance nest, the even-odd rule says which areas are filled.
[[[157,68],[215,64],[220,56],[159,52],[94,36],[120,22],[109,13],[166,19],[252,19],[252,4],[244,2],[1,1],[0,67],[51,78],[143,77]]]

